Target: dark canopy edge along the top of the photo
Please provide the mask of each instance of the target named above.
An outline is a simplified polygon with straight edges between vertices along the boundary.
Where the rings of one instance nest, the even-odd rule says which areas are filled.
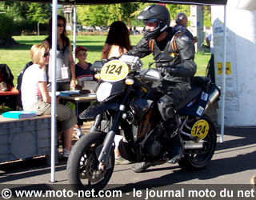
[[[1,0],[0,0],[1,1]],[[19,0],[11,0],[19,1]],[[52,0],[20,0],[21,2],[42,2],[51,3]],[[166,4],[190,4],[190,5],[226,5],[227,0],[58,0],[58,4],[93,5],[93,4],[110,4],[126,2],[149,2],[149,3],[166,3]]]

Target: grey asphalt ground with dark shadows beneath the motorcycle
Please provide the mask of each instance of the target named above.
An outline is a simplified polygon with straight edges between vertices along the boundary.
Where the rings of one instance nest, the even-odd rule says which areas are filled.
[[[216,128],[220,133],[220,128],[218,126]],[[233,184],[250,186],[250,178],[256,174],[256,127],[225,128],[224,142],[219,143],[219,138],[218,134],[214,158],[203,170],[188,172],[182,170],[178,164],[166,163],[135,174],[130,170],[133,164],[114,166],[109,185],[128,192],[134,192],[134,188],[138,186],[144,186],[143,190],[146,190],[148,186],[160,188],[160,186],[177,184],[185,187]],[[46,164],[46,158],[0,165],[0,186],[15,186],[14,184],[54,186],[68,184],[66,160],[60,160],[56,164],[54,177],[56,182],[50,182],[50,166]],[[252,195],[250,194],[250,197]]]

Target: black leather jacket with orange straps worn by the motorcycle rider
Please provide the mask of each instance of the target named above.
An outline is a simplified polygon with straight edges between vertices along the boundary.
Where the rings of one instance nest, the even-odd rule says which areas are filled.
[[[166,78],[166,80],[170,82],[190,82],[190,77],[194,76],[197,69],[197,65],[194,62],[194,46],[185,34],[178,34],[175,39],[177,49],[173,50],[171,44],[176,33],[171,27],[166,31],[168,34],[161,42],[154,40],[153,50],[150,49],[150,41],[147,41],[143,37],[141,41],[126,52],[126,54],[143,58],[152,53],[154,54],[154,60],[158,57],[158,54],[170,54],[174,56],[174,60],[164,65],[162,64],[160,67],[171,67],[176,70],[177,73],[174,76]],[[159,65],[157,67],[159,67]]]

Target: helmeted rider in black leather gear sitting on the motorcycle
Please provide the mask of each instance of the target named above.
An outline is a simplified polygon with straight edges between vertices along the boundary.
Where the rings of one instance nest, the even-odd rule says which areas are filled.
[[[175,163],[182,158],[184,150],[182,137],[177,129],[175,107],[189,94],[190,77],[196,73],[194,46],[185,34],[175,33],[170,27],[170,13],[166,6],[147,6],[138,14],[138,19],[144,21],[143,38],[126,54],[143,58],[152,53],[154,60],[162,53],[174,56],[174,60],[168,65],[166,63],[157,65],[162,74],[169,73],[170,76],[166,76],[162,82],[154,82],[153,86],[162,93],[162,97],[158,100],[158,110],[166,133],[173,142],[173,148],[166,157],[168,162]],[[132,166],[132,170],[139,173],[157,164],[162,162],[141,162]]]

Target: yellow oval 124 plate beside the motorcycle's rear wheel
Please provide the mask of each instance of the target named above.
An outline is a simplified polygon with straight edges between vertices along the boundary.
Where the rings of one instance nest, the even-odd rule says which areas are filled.
[[[209,132],[209,124],[206,120],[200,119],[194,124],[191,130],[191,135],[193,137],[198,137],[199,140],[206,137],[206,134]]]

